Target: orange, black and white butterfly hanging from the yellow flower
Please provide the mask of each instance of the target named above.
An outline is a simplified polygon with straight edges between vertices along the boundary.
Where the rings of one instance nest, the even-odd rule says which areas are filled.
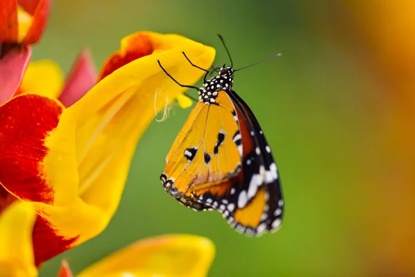
[[[279,172],[257,118],[232,89],[234,73],[248,66],[234,70],[223,37],[219,38],[230,66],[209,71],[193,64],[183,52],[192,66],[205,71],[203,87],[179,83],[158,60],[169,78],[199,93],[167,154],[160,180],[181,204],[195,211],[217,210],[239,233],[258,236],[277,231],[282,224]],[[208,79],[209,74],[216,75]]]

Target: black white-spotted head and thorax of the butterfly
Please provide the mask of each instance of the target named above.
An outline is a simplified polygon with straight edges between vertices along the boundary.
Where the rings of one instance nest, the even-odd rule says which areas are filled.
[[[203,87],[198,89],[199,101],[205,103],[216,102],[219,91],[232,91],[234,70],[230,66],[223,66],[219,73],[203,82]]]

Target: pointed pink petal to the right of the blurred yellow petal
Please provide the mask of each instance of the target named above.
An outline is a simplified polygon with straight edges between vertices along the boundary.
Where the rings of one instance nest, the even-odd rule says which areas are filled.
[[[65,107],[71,107],[89,91],[97,80],[97,73],[89,51],[82,51],[75,60],[59,100]]]

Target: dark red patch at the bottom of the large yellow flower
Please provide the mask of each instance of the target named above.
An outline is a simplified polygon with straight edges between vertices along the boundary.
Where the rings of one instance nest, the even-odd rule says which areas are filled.
[[[71,245],[77,240],[75,238],[64,238],[57,235],[53,226],[41,216],[37,216],[33,227],[33,252],[35,253],[35,265],[57,256],[58,254],[71,249]]]

